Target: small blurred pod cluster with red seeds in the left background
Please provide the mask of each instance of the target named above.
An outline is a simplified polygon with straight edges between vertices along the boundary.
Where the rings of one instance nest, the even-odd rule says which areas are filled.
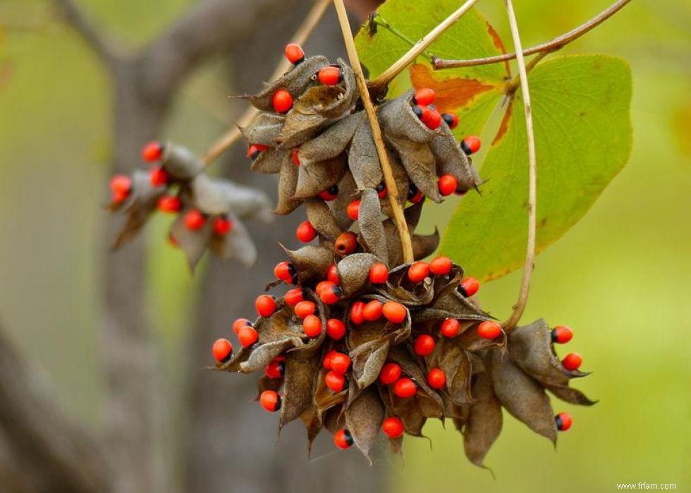
[[[257,250],[240,219],[271,220],[264,193],[210,177],[199,158],[172,142],[151,142],[142,154],[155,163],[150,171],[111,180],[109,210],[126,215],[114,248],[133,239],[159,209],[177,214],[169,241],[183,250],[192,269],[207,248],[219,257],[255,262]]]

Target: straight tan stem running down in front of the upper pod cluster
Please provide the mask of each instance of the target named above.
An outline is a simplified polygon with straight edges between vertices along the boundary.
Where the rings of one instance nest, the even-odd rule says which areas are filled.
[[[386,153],[384,146],[384,139],[381,137],[381,126],[379,126],[379,118],[377,112],[374,110],[374,104],[369,97],[369,90],[367,89],[367,79],[362,73],[362,66],[360,66],[360,57],[357,56],[357,49],[355,48],[355,39],[353,39],[353,32],[350,31],[350,23],[348,23],[348,13],[345,11],[343,0],[334,0],[336,13],[338,14],[338,23],[341,25],[343,32],[343,42],[345,42],[345,51],[348,52],[348,59],[350,59],[350,66],[355,73],[355,80],[357,80],[357,89],[360,90],[360,99],[362,99],[362,106],[365,106],[365,113],[369,126],[372,128],[372,137],[374,138],[374,145],[377,147],[377,155],[379,156],[379,163],[381,164],[381,172],[384,174],[384,183],[386,183],[386,190],[389,190],[389,202],[391,209],[393,209],[393,221],[396,223],[398,236],[400,237],[400,245],[403,247],[403,262],[409,263],[415,260],[412,256],[412,241],[410,238],[410,231],[408,231],[408,223],[405,221],[405,214],[403,207],[398,202],[398,186],[396,186],[396,178],[393,176],[393,169],[389,162],[389,154]]]

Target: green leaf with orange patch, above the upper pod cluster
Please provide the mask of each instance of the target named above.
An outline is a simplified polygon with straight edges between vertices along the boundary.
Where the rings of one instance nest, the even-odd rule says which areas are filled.
[[[370,78],[389,68],[410,49],[412,42],[434,29],[459,6],[458,0],[386,1],[377,10],[378,19],[389,23],[399,35],[379,25],[377,33],[370,37],[369,27],[364,25],[355,39],[357,52]],[[466,59],[494,56],[504,51],[494,28],[476,10],[471,10],[436,39],[425,53],[440,58]],[[509,77],[508,64],[503,63],[434,71],[429,57],[423,55],[393,80],[389,85],[389,97],[400,95],[410,87],[434,89],[437,108],[458,114],[460,125],[454,134],[463,138],[469,133],[481,132],[503,95]]]

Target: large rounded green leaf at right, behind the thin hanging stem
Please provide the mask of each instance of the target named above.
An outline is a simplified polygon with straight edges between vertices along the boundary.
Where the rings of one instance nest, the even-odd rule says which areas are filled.
[[[529,75],[537,149],[537,251],[583,217],[627,162],[631,74],[611,56],[564,56]],[[478,279],[520,267],[527,238],[527,143],[522,100],[508,106],[470,193],[448,224],[441,252]]]

